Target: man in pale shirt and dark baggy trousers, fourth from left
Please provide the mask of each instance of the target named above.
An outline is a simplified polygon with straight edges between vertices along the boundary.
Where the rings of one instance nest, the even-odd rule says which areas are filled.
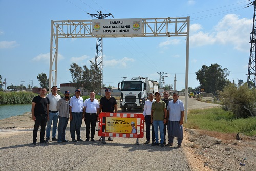
[[[70,118],[70,135],[72,142],[82,141],[81,125],[83,119],[83,99],[80,97],[80,89],[76,89],[75,96],[70,98],[69,118]],[[75,132],[77,140],[75,139]]]

